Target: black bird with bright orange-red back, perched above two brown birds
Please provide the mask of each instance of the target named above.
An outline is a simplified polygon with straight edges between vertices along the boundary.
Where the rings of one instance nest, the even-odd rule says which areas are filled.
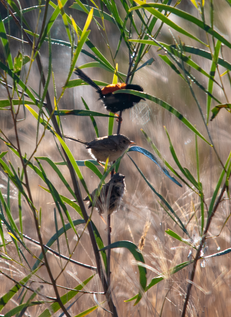
[[[106,109],[113,113],[131,108],[141,99],[145,100],[144,98],[133,94],[112,94],[114,91],[120,89],[132,89],[143,92],[144,89],[139,85],[125,84],[124,82],[119,82],[117,84],[108,85],[101,89],[98,85],[96,85],[96,83],[94,83],[93,80],[91,80],[91,78],[84,74],[81,69],[75,68],[75,74],[77,74],[83,81],[96,89],[97,93],[99,94],[99,99],[103,101]]]

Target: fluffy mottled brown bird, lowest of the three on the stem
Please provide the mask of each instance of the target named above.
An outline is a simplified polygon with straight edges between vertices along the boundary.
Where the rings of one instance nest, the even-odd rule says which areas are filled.
[[[98,209],[100,215],[104,213],[111,215],[112,212],[119,207],[125,190],[124,178],[124,175],[115,173],[109,182],[102,185],[102,189],[98,198],[95,197],[95,193],[98,188],[94,189],[90,194],[92,200],[96,199],[94,207]],[[83,200],[90,201],[88,196]],[[91,207],[92,203],[90,202],[88,208]]]

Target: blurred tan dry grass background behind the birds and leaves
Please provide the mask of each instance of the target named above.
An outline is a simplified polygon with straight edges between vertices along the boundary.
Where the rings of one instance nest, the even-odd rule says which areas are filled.
[[[28,2],[21,2],[22,6],[28,5]],[[68,2],[71,5],[70,2]],[[119,5],[119,3],[117,3]],[[32,1],[30,1],[32,5]],[[208,5],[206,3],[206,5]],[[191,14],[196,15],[196,10],[193,9],[190,2],[182,1],[182,8],[190,6]],[[226,12],[230,9],[224,1],[218,1],[215,3],[218,7],[217,12],[219,13],[215,16],[216,27],[219,29],[220,33],[224,33],[226,38],[230,40],[230,23],[229,16]],[[74,12],[73,12],[74,11]],[[230,11],[230,10],[229,10]],[[75,12],[75,10],[67,9],[66,12],[71,13],[72,16],[78,23],[84,24],[86,16],[81,13]],[[36,21],[37,12],[32,11],[26,16],[32,23]],[[222,18],[221,18],[222,16]],[[81,22],[81,19],[83,22]],[[175,22],[180,23],[179,20],[174,17]],[[116,48],[115,43],[117,43],[119,33],[117,30],[112,29],[111,25],[107,25],[111,28],[108,31],[110,42],[112,44],[112,50]],[[106,45],[101,39],[98,29],[91,23],[91,33],[90,40],[98,45],[98,48],[103,54],[109,59],[109,52],[106,49]],[[17,30],[15,30],[17,34]],[[52,29],[53,38],[67,37],[64,27],[61,23],[61,16],[55,22],[55,27]],[[195,30],[197,32],[197,30]],[[18,34],[19,36],[19,34]],[[116,39],[116,40],[115,40]],[[164,27],[161,31],[159,41],[172,43],[172,39],[167,27]],[[189,39],[187,39],[187,45],[190,45]],[[11,40],[11,53],[12,56],[16,56],[19,49],[18,42]],[[44,47],[41,51],[43,67],[46,73],[48,65],[48,45],[44,43]],[[30,55],[29,51],[25,54]],[[55,84],[57,88],[57,95],[61,93],[61,87],[63,86],[70,63],[70,49],[66,47],[52,46],[52,66],[55,74]],[[225,58],[230,59],[230,56],[226,55]],[[162,60],[157,55],[156,49],[150,49],[147,59],[154,57],[155,62],[151,66],[142,68],[136,73],[133,83],[141,84],[144,87],[144,92],[154,95],[162,100],[168,102],[172,107],[175,107],[179,112],[181,112],[191,123],[195,124],[197,129],[206,136],[206,131],[203,126],[202,119],[199,115],[198,109],[196,107],[195,101],[190,95],[189,88],[187,84],[170,69],[168,68]],[[85,55],[80,55],[77,61],[77,65],[82,65],[90,61],[90,58]],[[200,66],[209,72],[209,63],[203,64],[203,60],[197,61]],[[125,45],[123,45],[119,56],[119,71],[126,73],[128,65],[128,53]],[[221,73],[224,70],[221,68]],[[108,83],[112,82],[112,75],[106,73],[100,68],[87,69],[87,74],[91,78],[106,81]],[[207,80],[200,77],[200,75],[195,74],[196,78],[206,85]],[[72,78],[75,78],[72,76]],[[30,72],[29,85],[38,91],[39,89],[39,74],[37,71],[36,64]],[[227,88],[228,97],[230,97],[230,87],[228,87],[228,80],[224,76],[224,84]],[[193,86],[197,94],[198,99],[201,102],[202,109],[206,111],[206,95],[203,94],[196,85]],[[53,88],[52,82],[49,87],[50,96],[53,100]],[[214,94],[219,96],[221,100],[224,100],[222,92],[215,88]],[[0,96],[1,99],[6,99],[6,91],[0,86]],[[99,112],[105,112],[100,101],[97,101],[97,94],[94,89],[90,86],[75,87],[66,90],[64,97],[61,99],[59,104],[60,109],[84,109],[81,102],[81,98],[87,102],[90,109]],[[21,114],[23,117],[23,113]],[[10,112],[1,111],[1,129],[8,136],[8,138],[15,143],[14,127],[11,119]],[[86,141],[94,139],[94,129],[92,123],[88,117],[61,117],[62,126],[64,133],[84,139]],[[107,134],[107,119],[96,118],[96,122],[99,128],[100,136]],[[217,118],[212,122],[209,122],[209,129],[214,140],[217,151],[224,162],[229,154],[231,148],[230,139],[230,114],[225,110],[221,111]],[[195,154],[195,136],[189,131],[178,119],[172,116],[170,113],[161,109],[158,105],[152,103],[151,101],[141,102],[135,106],[131,111],[126,110],[123,114],[123,122],[121,125],[121,133],[128,136],[130,139],[136,142],[136,145],[142,146],[152,152],[150,145],[144,138],[143,133],[140,128],[151,137],[159,151],[162,153],[163,157],[175,168],[176,165],[171,157],[169,150],[169,142],[164,131],[166,126],[173,146],[175,147],[176,153],[181,164],[187,167],[191,173],[196,178],[196,154]],[[22,147],[22,153],[26,152],[27,156],[30,156],[32,149],[35,146],[35,133],[36,133],[36,120],[29,113],[26,113],[26,120],[18,123],[20,145]],[[41,130],[42,131],[42,130]],[[116,124],[114,126],[114,133],[116,132]],[[84,160],[88,159],[89,155],[87,150],[83,145],[67,140],[67,146],[71,149],[75,159]],[[198,140],[199,146],[199,156],[200,156],[200,171],[201,180],[203,184],[204,196],[206,202],[209,204],[212,193],[214,191],[216,182],[221,173],[221,165],[218,162],[216,156],[211,151],[208,145],[206,145],[201,140]],[[0,150],[6,151],[7,147],[1,142]],[[132,152],[130,153],[132,158],[135,160],[139,168],[143,171],[144,175],[153,184],[154,188],[160,192],[161,195],[170,203],[175,212],[181,219],[183,223],[187,223],[191,215],[199,208],[198,196],[190,191],[184,184],[180,188],[176,184],[166,178],[165,175],[158,169],[158,167],[151,162],[149,159],[145,158],[141,153]],[[53,161],[61,161],[61,157],[55,146],[54,138],[50,133],[46,133],[39,146],[36,156],[48,156]],[[15,158],[14,155],[9,151],[7,154],[7,159],[9,159],[12,164],[16,167],[20,165],[19,160]],[[49,168],[49,165],[44,161],[42,165],[48,175],[48,178],[55,185],[63,196],[69,198],[70,195],[66,187],[60,182],[58,176]],[[68,183],[71,184],[71,179],[68,173],[68,169],[65,166],[59,166],[61,172],[67,179]],[[86,167],[81,167],[81,172],[84,179],[87,182],[89,190],[93,190],[99,179]],[[177,226],[174,225],[170,217],[166,214],[163,208],[159,205],[157,197],[151,191],[151,189],[146,185],[144,179],[140,176],[135,166],[132,164],[131,160],[125,156],[121,161],[119,171],[125,175],[126,183],[126,193],[123,199],[123,203],[116,213],[112,215],[112,242],[119,240],[129,240],[139,245],[139,241],[145,232],[145,241],[142,254],[145,259],[145,263],[150,267],[147,268],[147,278],[148,283],[154,276],[167,272],[167,270],[179,263],[187,261],[187,256],[189,254],[189,249],[183,243],[174,240],[170,236],[165,234],[165,230],[170,228],[171,230],[182,235],[181,231]],[[46,243],[49,238],[55,234],[54,225],[54,207],[52,197],[50,194],[42,190],[38,185],[44,186],[42,180],[32,171],[28,171],[28,177],[30,180],[30,187],[33,193],[34,203],[37,209],[42,208],[42,237],[43,241]],[[2,175],[2,178],[3,175]],[[6,179],[2,179],[1,184],[6,186]],[[80,185],[81,187],[81,185]],[[3,192],[6,193],[6,190]],[[81,192],[83,197],[86,193],[81,187]],[[16,221],[18,218],[18,205],[17,205],[17,190],[11,184],[10,195],[11,199],[11,210],[13,217]],[[227,196],[225,197],[227,198]],[[213,236],[220,232],[221,226],[223,225],[226,217],[230,213],[230,203],[229,200],[224,200],[212,221],[212,225],[209,231],[209,235]],[[78,219],[78,214],[68,208],[72,219]],[[24,233],[31,238],[37,240],[34,220],[31,211],[27,207],[27,204],[22,202],[22,215],[23,215],[23,230]],[[106,237],[106,225],[100,219],[97,211],[94,210],[92,216],[93,222],[96,224],[100,235],[103,239],[104,245],[107,244]],[[200,219],[197,219],[200,222]],[[205,255],[213,254],[218,252],[217,250],[227,249],[230,247],[230,220],[226,223],[225,228],[222,233],[217,238],[207,239],[206,250],[204,250]],[[61,221],[58,222],[58,227],[61,227]],[[76,227],[78,233],[80,234],[84,228],[84,225]],[[146,231],[145,231],[146,230]],[[196,217],[193,217],[187,226],[187,230],[195,241],[195,246],[199,243],[198,236],[198,226],[196,223]],[[6,232],[5,232],[6,233]],[[70,248],[72,249],[76,243],[75,235],[72,230],[69,230],[68,241]],[[186,236],[183,236],[187,238]],[[10,238],[8,237],[8,240]],[[35,253],[36,256],[40,254],[40,248],[32,243],[26,242],[28,247]],[[66,242],[64,237],[60,239],[60,251],[61,254],[68,256]],[[57,245],[53,245],[53,249],[57,250]],[[12,257],[16,256],[15,247],[9,246],[9,254]],[[78,248],[74,252],[73,259],[80,261],[89,265],[95,266],[94,254],[90,243],[90,238],[87,230],[84,232]],[[33,266],[35,259],[28,257],[29,265]],[[54,255],[48,254],[48,260],[52,268],[54,276],[61,269],[60,259]],[[65,261],[61,261],[62,265]],[[0,267],[5,272],[16,279],[21,280],[25,275],[28,274],[26,269],[17,266],[16,263],[10,262],[4,259],[0,259]],[[201,260],[200,265],[198,263],[196,268],[196,276],[194,279],[195,285],[192,287],[191,296],[188,305],[188,316],[230,316],[231,311],[231,264],[230,255],[225,255],[222,257],[210,258],[206,261]],[[183,306],[184,294],[187,287],[187,279],[189,278],[189,273],[191,267],[184,268],[178,273],[165,276],[165,280],[159,282],[157,285],[148,290],[147,293],[143,295],[142,300],[137,306],[133,306],[134,302],[125,303],[124,300],[131,298],[138,293],[139,290],[139,274],[137,265],[133,262],[133,257],[130,252],[126,249],[112,249],[111,253],[111,281],[112,281],[112,296],[115,306],[118,309],[119,316],[159,316],[161,312],[162,305],[164,304],[162,316],[179,316],[180,310]],[[67,265],[65,272],[60,276],[57,284],[64,287],[73,288],[79,281],[84,281],[92,274],[90,270],[78,267],[72,263]],[[48,274],[45,268],[42,268],[39,272],[44,280],[49,280]],[[35,282],[32,283],[33,288],[39,287],[39,279],[34,277]],[[3,276],[0,276],[0,294],[1,296],[8,291],[12,286],[13,282],[6,280]],[[99,291],[102,292],[102,286],[98,277],[94,277],[93,280],[87,284],[85,290],[87,291]],[[65,294],[65,289],[59,289],[60,294]],[[41,290],[48,296],[54,296],[53,288],[44,285]],[[29,295],[26,295],[29,296]],[[165,298],[166,296],[166,298]],[[78,300],[70,308],[69,313],[74,316],[79,312],[92,307],[95,305],[92,294],[78,294],[75,298]],[[42,296],[41,296],[42,299]],[[97,295],[99,302],[104,301],[104,295]],[[9,302],[3,309],[2,313],[6,313],[10,308],[15,306],[14,298]],[[38,316],[41,313],[40,308],[31,307],[28,308],[25,315],[28,316]],[[55,314],[55,316],[61,316],[61,312]],[[101,308],[91,313],[92,316],[109,316],[109,313],[103,311]]]

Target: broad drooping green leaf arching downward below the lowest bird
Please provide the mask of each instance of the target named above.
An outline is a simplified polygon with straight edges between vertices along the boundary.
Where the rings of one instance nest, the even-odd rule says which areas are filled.
[[[144,257],[142,256],[141,252],[138,251],[137,246],[130,241],[117,241],[117,242],[111,243],[110,245],[107,245],[106,247],[104,247],[103,249],[100,249],[99,251],[114,249],[114,248],[126,248],[132,253],[136,261],[145,263]],[[140,274],[140,285],[143,289],[145,289],[146,283],[147,283],[147,278],[146,278],[147,270],[143,266],[139,266],[139,265],[138,265],[138,269]]]

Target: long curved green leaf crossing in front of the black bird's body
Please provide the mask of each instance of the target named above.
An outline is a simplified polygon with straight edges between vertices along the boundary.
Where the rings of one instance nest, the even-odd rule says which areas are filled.
[[[157,97],[154,97],[152,95],[149,95],[149,94],[145,94],[145,93],[142,93],[140,91],[136,91],[136,90],[131,90],[131,89],[120,89],[120,90],[117,90],[115,92],[113,92],[113,94],[118,94],[118,92],[121,94],[133,94],[133,95],[136,95],[136,96],[140,96],[142,98],[145,98],[145,99],[148,99],[148,100],[151,100],[155,103],[157,103],[157,105],[163,107],[164,109],[168,110],[170,113],[172,113],[173,115],[175,115],[179,120],[181,120],[181,122],[187,126],[193,133],[196,133],[196,135],[201,138],[203,141],[205,141],[207,144],[209,144],[210,146],[212,146],[204,137],[203,135],[180,113],[178,112],[175,108],[171,107],[167,102],[157,98]]]

